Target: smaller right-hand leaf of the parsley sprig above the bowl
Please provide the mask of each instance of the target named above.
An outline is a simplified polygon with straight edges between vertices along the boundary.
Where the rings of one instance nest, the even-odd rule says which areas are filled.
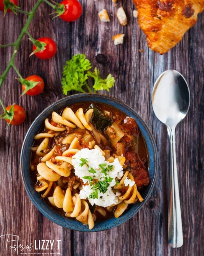
[[[106,79],[103,79],[97,68],[94,68],[94,72],[88,71],[87,76],[93,77],[94,79],[94,92],[100,90],[107,90],[109,92],[109,89],[113,87],[115,83],[115,78],[111,74],[109,74]]]

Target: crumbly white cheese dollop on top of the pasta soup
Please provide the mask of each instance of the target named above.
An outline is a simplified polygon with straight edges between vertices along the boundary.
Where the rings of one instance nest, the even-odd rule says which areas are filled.
[[[82,158],[86,159],[86,163],[83,164],[83,166],[81,166]],[[82,186],[79,193],[81,199],[88,199],[91,205],[96,204],[103,207],[118,203],[118,197],[113,193],[112,190],[113,186],[116,184],[115,179],[121,179],[123,176],[123,168],[118,158],[116,158],[113,163],[109,163],[105,160],[105,157],[102,156],[100,150],[83,148],[72,157],[72,164],[75,169],[75,175],[82,179],[84,184],[87,182],[89,183],[89,185]],[[111,170],[109,169],[105,175],[105,173],[102,172],[103,169],[99,166],[99,164],[106,164],[105,168],[112,166]],[[91,168],[93,168],[96,173],[89,172],[88,170]],[[91,181],[89,179],[83,178],[85,176],[91,177],[93,180],[96,180],[96,182],[104,181],[106,177],[112,178],[113,180],[108,182],[109,186],[107,187],[105,193],[102,193],[98,188],[98,198],[89,198],[89,196],[95,191],[95,188],[92,188],[93,184],[90,184]]]

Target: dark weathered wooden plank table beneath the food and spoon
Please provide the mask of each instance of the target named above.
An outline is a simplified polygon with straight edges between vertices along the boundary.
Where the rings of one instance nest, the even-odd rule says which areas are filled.
[[[22,1],[23,10],[30,10],[36,1]],[[128,15],[128,25],[120,26],[110,0],[84,0],[83,14],[74,23],[59,18],[51,20],[53,10],[40,5],[30,26],[34,38],[48,36],[57,42],[58,51],[50,60],[39,60],[32,52],[32,43],[25,36],[20,45],[15,64],[21,75],[37,74],[45,80],[45,90],[38,96],[21,94],[21,84],[15,80],[17,74],[10,70],[0,94],[5,105],[16,102],[27,112],[24,124],[5,129],[0,122],[0,235],[14,234],[25,243],[34,240],[61,240],[62,256],[69,255],[204,255],[204,14],[191,28],[183,40],[169,53],[159,55],[148,49],[145,35],[133,18],[131,0],[118,1]],[[106,8],[111,22],[102,23],[98,11]],[[0,13],[0,43],[15,41],[26,17],[23,14]],[[124,33],[124,44],[114,46],[112,36]],[[140,52],[143,50],[144,52]],[[11,48],[0,49],[0,73],[3,73],[11,58]],[[110,73],[116,84],[109,95],[123,100],[133,107],[147,122],[158,149],[159,169],[152,194],[131,220],[107,231],[82,233],[62,228],[45,218],[28,198],[20,174],[19,156],[21,145],[34,118],[47,106],[64,97],[61,88],[62,67],[73,54],[85,53],[93,66]],[[188,115],[176,130],[178,178],[183,222],[184,245],[178,249],[168,246],[168,169],[169,143],[166,128],[153,114],[151,92],[157,77],[166,69],[176,69],[186,78],[191,92]],[[73,92],[74,93],[74,92]],[[6,241],[0,238],[1,255],[5,255]],[[38,252],[38,251],[32,251]],[[39,252],[45,252],[40,250]],[[9,254],[10,253],[10,254]],[[6,255],[17,255],[7,251]]]

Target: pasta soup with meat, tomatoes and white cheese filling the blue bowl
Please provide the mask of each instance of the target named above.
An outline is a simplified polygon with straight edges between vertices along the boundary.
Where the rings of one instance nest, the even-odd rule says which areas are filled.
[[[60,113],[45,119],[31,148],[41,197],[89,229],[142,202],[138,187],[148,185],[148,157],[135,120],[100,104],[75,104]]]

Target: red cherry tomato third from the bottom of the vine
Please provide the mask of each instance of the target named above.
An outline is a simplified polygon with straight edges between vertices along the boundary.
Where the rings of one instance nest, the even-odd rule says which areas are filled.
[[[46,46],[45,46],[45,50],[42,50],[40,52],[35,52],[35,55],[39,59],[42,59],[42,60],[47,60],[47,59],[52,58],[57,51],[57,46],[56,46],[55,42],[49,37],[41,37],[37,40],[42,43],[45,43]],[[35,51],[35,50],[36,50],[36,46],[33,45],[33,51]]]

